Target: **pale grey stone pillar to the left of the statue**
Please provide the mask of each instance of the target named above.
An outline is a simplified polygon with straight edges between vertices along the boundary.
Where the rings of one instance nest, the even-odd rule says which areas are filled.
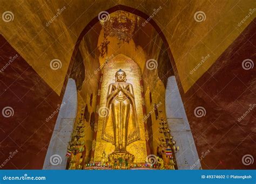
[[[65,94],[60,105],[58,118],[52,133],[43,169],[65,169],[68,144],[77,114],[76,82],[69,79]]]

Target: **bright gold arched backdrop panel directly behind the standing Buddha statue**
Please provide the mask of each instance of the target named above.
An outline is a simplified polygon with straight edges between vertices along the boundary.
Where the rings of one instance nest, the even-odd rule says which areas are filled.
[[[106,106],[107,89],[109,87],[109,84],[114,82],[114,75],[120,68],[126,72],[127,82],[133,85],[140,131],[140,140],[128,145],[127,151],[135,156],[134,162],[145,162],[147,151],[145,141],[145,129],[142,121],[142,89],[140,88],[139,83],[141,77],[140,68],[138,67],[136,62],[132,61],[130,58],[123,54],[114,56],[114,58],[104,67],[102,89],[100,90],[99,108]],[[100,161],[103,151],[105,151],[106,155],[114,151],[114,146],[111,143],[107,143],[105,140],[102,139],[103,120],[104,117],[99,116],[94,161]]]

